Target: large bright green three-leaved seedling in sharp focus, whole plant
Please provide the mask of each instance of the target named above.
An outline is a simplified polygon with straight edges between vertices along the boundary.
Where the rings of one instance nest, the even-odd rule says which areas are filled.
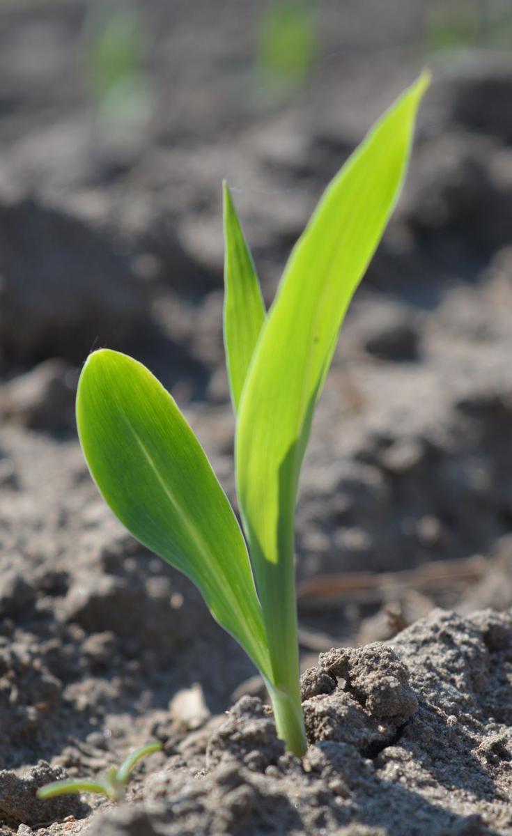
[[[298,756],[305,752],[294,582],[300,468],[346,308],[402,187],[427,86],[422,74],[335,176],[268,312],[224,188],[224,342],[247,546],[199,441],[151,372],[100,349],[79,380],[79,439],[105,501],[196,584],[263,675],[279,737]]]

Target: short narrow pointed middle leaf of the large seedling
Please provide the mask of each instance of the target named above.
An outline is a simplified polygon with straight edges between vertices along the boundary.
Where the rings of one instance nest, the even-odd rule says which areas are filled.
[[[224,345],[235,412],[243,383],[264,324],[264,301],[228,184],[224,196]]]

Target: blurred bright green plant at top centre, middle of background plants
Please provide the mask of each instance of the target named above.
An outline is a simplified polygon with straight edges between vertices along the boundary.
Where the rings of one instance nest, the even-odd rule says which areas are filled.
[[[284,0],[259,23],[256,73],[273,94],[289,94],[305,83],[320,52],[317,18],[308,0]]]

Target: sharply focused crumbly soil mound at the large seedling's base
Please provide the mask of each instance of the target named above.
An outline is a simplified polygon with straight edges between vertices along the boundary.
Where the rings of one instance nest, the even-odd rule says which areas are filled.
[[[512,731],[496,701],[512,665],[509,614],[435,609],[392,645],[319,663],[310,680],[340,679],[304,702],[303,761],[243,697],[204,735],[206,770],[194,776],[175,755],[148,777],[143,805],[98,813],[90,833],[510,833]]]

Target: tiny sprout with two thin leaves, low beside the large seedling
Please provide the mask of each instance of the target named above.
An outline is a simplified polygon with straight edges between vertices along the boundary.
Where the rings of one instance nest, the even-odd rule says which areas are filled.
[[[161,743],[146,743],[135,752],[131,752],[120,767],[109,767],[105,774],[97,781],[92,778],[64,778],[63,781],[54,781],[45,784],[38,789],[38,798],[55,798],[58,795],[71,795],[78,793],[99,793],[110,798],[110,801],[122,801],[125,798],[126,787],[131,778],[136,764],[143,757],[153,752],[160,752]]]

